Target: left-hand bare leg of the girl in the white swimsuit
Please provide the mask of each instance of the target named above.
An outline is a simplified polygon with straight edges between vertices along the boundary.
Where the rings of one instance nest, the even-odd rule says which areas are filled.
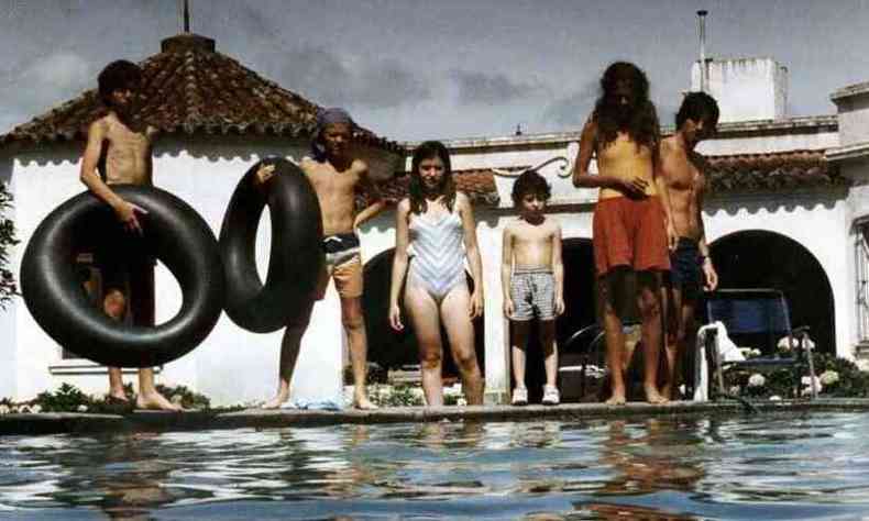
[[[435,299],[419,286],[408,284],[405,308],[414,324],[419,344],[419,365],[422,373],[422,393],[430,407],[443,404],[443,346],[440,339],[440,315]]]

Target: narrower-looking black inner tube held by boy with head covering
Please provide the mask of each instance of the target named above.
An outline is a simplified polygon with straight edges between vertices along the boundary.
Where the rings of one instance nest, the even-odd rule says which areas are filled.
[[[254,185],[260,165],[275,166],[263,187]],[[256,273],[256,228],[263,208],[272,218],[272,253],[265,285]],[[268,158],[242,177],[223,217],[220,253],[227,280],[227,314],[254,333],[292,323],[311,303],[323,263],[322,220],[317,193],[293,163]]]

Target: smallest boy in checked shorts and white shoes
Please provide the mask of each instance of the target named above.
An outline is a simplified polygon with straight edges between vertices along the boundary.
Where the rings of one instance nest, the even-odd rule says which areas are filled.
[[[501,281],[504,314],[513,322],[514,406],[528,403],[525,387],[525,346],[530,321],[539,320],[540,345],[544,353],[543,404],[560,401],[556,377],[558,347],[556,317],[564,312],[564,265],[561,262],[561,226],[543,214],[551,196],[549,184],[534,170],[525,171],[513,185],[513,204],[519,219],[504,229]]]

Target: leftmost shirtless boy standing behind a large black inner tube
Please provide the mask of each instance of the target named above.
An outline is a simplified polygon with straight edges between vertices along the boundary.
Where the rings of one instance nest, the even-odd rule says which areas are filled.
[[[142,73],[125,60],[112,62],[97,81],[99,95],[109,113],[91,123],[81,159],[81,182],[106,201],[118,217],[100,230],[91,231],[99,240],[95,260],[102,275],[102,309],[113,320],[121,320],[128,309],[136,325],[154,325],[154,257],[143,251],[140,217],[145,210],[125,201],[111,186],[116,184],[152,185],[151,145],[156,134],[134,119],[139,104]],[[105,167],[99,168],[105,157]],[[120,367],[109,367],[109,397],[128,401]],[[178,411],[154,387],[154,369],[139,369],[140,409]]]

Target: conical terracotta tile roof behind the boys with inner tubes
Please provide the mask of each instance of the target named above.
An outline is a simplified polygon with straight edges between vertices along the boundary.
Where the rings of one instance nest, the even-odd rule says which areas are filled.
[[[215,51],[215,41],[182,34],[140,64],[144,104],[139,117],[166,133],[310,136],[318,106]],[[96,89],[0,136],[11,142],[84,140],[103,115]],[[365,144],[400,153],[398,144],[360,129]]]

